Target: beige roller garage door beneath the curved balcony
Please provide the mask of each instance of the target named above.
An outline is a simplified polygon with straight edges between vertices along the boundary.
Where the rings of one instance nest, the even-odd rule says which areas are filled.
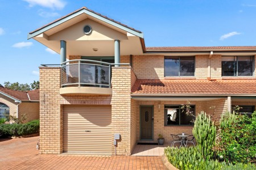
[[[64,105],[64,152],[112,154],[111,105]]]

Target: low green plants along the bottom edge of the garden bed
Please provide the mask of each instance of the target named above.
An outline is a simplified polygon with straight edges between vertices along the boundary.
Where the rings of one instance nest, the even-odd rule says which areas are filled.
[[[254,164],[236,165],[218,162],[217,160],[205,160],[200,153],[199,147],[167,147],[164,150],[168,161],[178,169],[205,169],[205,170],[222,170],[222,169],[256,169]]]

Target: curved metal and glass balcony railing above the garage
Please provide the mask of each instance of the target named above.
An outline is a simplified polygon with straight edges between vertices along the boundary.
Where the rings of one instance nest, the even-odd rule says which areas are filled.
[[[111,87],[112,63],[74,59],[61,63],[61,87]]]

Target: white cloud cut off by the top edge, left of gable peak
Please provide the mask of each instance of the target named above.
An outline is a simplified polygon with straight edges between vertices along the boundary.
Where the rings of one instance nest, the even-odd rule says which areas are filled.
[[[47,8],[52,8],[55,9],[57,8],[58,10],[61,10],[65,7],[67,4],[66,2],[62,0],[23,0],[28,2],[29,7],[34,7],[36,5],[42,6],[42,7],[47,7]]]

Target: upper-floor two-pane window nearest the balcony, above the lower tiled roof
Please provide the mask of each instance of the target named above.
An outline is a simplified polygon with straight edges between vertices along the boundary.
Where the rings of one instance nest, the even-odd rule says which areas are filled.
[[[164,57],[164,76],[194,76],[195,57]]]

